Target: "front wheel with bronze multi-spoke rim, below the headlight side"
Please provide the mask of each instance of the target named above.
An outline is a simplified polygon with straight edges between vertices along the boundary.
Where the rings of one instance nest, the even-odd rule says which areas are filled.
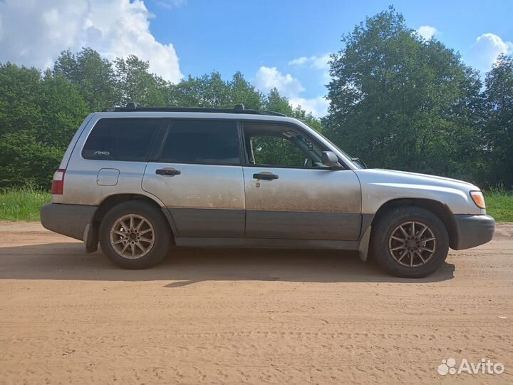
[[[437,271],[445,262],[449,235],[432,212],[415,206],[396,207],[375,222],[370,250],[385,272],[396,277],[421,278]]]

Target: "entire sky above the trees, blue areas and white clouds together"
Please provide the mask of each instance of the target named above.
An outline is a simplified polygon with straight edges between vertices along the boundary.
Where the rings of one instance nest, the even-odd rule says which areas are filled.
[[[326,58],[366,16],[390,4],[487,71],[513,53],[513,1],[0,0],[0,61],[51,66],[66,48],[108,58],[135,53],[170,81],[242,71],[316,115],[326,111]]]

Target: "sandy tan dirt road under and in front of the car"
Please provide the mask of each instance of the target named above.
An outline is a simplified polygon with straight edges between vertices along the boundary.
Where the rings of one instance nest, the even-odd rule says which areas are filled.
[[[440,376],[450,357],[506,371]],[[0,384],[440,382],[513,383],[512,224],[411,280],[319,251],[175,250],[124,271],[0,222]]]

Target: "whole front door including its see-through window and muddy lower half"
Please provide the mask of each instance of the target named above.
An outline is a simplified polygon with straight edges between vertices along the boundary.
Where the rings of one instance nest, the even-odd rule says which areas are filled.
[[[292,125],[246,123],[246,237],[357,240],[361,188],[323,166],[322,145]]]

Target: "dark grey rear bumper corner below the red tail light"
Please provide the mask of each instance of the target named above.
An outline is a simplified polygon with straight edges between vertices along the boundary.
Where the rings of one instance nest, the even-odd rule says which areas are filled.
[[[86,228],[93,222],[97,206],[50,203],[41,207],[41,225],[62,235],[84,240]]]

